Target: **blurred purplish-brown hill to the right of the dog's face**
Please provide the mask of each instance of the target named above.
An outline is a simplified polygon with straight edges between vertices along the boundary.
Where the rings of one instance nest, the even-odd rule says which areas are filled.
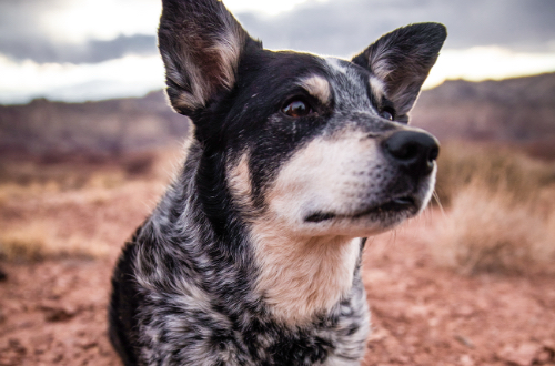
[[[412,122],[440,139],[555,143],[555,73],[446,81],[422,93]]]

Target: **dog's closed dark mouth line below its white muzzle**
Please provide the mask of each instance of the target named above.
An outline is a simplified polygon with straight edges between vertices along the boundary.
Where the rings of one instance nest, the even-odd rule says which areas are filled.
[[[369,215],[391,215],[397,213],[406,213],[418,211],[418,204],[412,196],[401,196],[386,201],[379,205],[373,205],[369,209],[357,211],[353,214],[336,214],[333,212],[314,212],[309,214],[304,221],[309,223],[320,223],[333,218],[361,218]]]

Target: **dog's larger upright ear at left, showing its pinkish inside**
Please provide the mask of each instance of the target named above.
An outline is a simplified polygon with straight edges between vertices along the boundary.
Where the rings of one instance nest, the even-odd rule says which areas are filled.
[[[219,0],[162,0],[158,30],[172,106],[190,115],[229,91],[248,43],[260,47]]]

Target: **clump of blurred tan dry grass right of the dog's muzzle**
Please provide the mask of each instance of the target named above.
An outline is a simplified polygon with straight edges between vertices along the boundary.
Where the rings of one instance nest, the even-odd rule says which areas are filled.
[[[454,144],[440,161],[446,213],[425,234],[465,274],[555,272],[555,169],[506,148]]]

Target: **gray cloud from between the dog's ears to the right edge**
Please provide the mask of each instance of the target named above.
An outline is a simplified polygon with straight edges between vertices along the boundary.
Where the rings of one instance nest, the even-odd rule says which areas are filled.
[[[238,18],[266,47],[316,53],[349,55],[383,33],[423,21],[446,24],[451,49],[555,50],[553,0],[342,0],[309,2],[274,18]]]

